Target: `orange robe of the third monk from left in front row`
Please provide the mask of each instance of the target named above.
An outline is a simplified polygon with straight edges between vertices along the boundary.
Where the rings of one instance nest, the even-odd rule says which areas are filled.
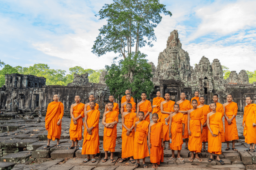
[[[136,113],[128,113],[124,116],[124,124],[127,128],[131,128],[135,122],[137,122]],[[123,126],[122,126],[123,127]],[[134,128],[130,132],[129,136],[126,136],[127,130],[123,127],[122,129],[122,158],[128,158],[133,156],[133,141],[134,141]]]

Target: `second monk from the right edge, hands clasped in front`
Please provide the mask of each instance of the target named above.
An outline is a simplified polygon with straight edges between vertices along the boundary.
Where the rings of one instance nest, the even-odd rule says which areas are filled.
[[[239,139],[237,127],[236,127],[236,114],[237,114],[237,104],[232,102],[233,97],[231,94],[227,96],[227,103],[223,104],[224,107],[224,116],[225,116],[225,141],[227,142],[227,148],[225,150],[229,150],[229,141],[232,140],[232,149],[237,151],[235,148],[235,141]]]

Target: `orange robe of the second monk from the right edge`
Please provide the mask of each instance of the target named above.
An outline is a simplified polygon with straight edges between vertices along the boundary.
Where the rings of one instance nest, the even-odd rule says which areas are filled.
[[[237,104],[235,102],[231,102],[230,104],[225,106],[225,111],[227,117],[230,119],[233,115],[237,114]],[[239,139],[237,127],[236,127],[236,117],[231,121],[231,125],[228,124],[228,121],[225,119],[225,141],[231,141]]]

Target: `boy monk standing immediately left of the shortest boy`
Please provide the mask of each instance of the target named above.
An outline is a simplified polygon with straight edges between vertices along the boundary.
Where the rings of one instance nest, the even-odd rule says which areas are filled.
[[[147,168],[145,157],[149,156],[147,145],[147,134],[149,123],[143,120],[144,112],[138,113],[139,121],[135,123],[134,145],[133,145],[133,158],[137,159],[136,168],[140,166],[140,159],[142,159],[143,167]]]

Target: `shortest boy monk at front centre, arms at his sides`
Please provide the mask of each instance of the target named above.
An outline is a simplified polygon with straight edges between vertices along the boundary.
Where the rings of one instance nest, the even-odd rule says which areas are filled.
[[[157,113],[152,114],[153,123],[148,127],[148,147],[150,148],[150,162],[152,168],[158,168],[160,161],[164,161],[164,132],[163,123],[157,122]]]

